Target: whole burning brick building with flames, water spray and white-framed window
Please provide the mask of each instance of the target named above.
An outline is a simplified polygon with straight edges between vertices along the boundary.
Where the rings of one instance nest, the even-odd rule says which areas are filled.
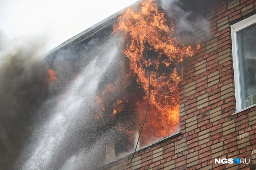
[[[255,13],[255,0],[144,0],[49,51],[45,123],[21,167],[255,169]]]

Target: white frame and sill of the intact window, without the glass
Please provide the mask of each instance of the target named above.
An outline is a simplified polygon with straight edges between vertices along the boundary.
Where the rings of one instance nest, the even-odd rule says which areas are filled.
[[[256,14],[251,17],[248,17],[238,23],[231,25],[231,38],[232,38],[232,55],[233,55],[233,66],[234,66],[234,79],[235,79],[235,95],[236,95],[236,113],[244,111],[246,109],[252,108],[256,106],[253,104],[247,108],[242,108],[242,101],[241,101],[241,91],[240,91],[240,77],[239,77],[239,65],[238,65],[238,50],[237,50],[237,40],[236,40],[236,33],[245,29],[252,24],[256,23]],[[232,115],[233,115],[232,114]]]

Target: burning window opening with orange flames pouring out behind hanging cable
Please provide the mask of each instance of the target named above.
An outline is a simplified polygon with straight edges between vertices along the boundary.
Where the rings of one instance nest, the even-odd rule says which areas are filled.
[[[113,117],[110,126],[119,129],[117,138],[121,139],[112,141],[116,144],[117,154],[133,150],[145,118],[149,82],[145,47],[151,85],[149,111],[140,137],[140,148],[179,130],[178,85],[182,77],[177,71],[178,64],[193,56],[199,47],[180,44],[172,35],[174,29],[172,23],[167,25],[164,12],[158,10],[153,0],[143,1],[138,12],[126,10],[113,26],[114,35],[125,35],[125,63],[121,78],[106,84],[98,92],[94,116],[96,120]],[[107,149],[110,146],[107,144]]]

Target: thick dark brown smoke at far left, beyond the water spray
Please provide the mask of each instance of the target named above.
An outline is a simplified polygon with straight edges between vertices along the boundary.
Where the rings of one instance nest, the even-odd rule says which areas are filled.
[[[12,40],[0,30],[0,169],[11,169],[46,97],[47,65],[35,65],[45,43],[39,36]]]

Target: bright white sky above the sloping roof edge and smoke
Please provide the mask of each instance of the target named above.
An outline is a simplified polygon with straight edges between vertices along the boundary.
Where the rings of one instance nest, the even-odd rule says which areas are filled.
[[[10,38],[46,36],[48,51],[136,1],[0,0],[0,29]]]

